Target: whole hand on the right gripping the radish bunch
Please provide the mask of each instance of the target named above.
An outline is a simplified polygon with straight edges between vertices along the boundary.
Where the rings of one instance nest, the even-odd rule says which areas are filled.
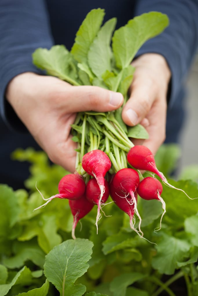
[[[144,144],[155,154],[166,135],[167,89],[171,72],[165,58],[153,53],[141,55],[132,66],[135,67],[134,78],[122,118],[129,126],[137,123],[145,126],[149,139],[133,139],[133,143]]]

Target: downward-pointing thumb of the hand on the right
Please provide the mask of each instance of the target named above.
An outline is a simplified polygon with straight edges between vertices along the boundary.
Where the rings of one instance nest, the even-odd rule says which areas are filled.
[[[143,120],[151,109],[156,97],[153,80],[139,75],[134,79],[131,96],[122,111],[123,121],[134,126]]]

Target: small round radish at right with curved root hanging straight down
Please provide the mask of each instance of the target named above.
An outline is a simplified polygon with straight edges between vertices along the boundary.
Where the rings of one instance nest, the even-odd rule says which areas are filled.
[[[158,230],[161,229],[161,221],[162,217],[166,213],[166,204],[161,197],[163,187],[159,180],[153,177],[146,177],[144,178],[139,186],[137,187],[137,193],[142,197],[144,200],[159,200],[162,203],[162,209],[164,210],[163,214],[161,215],[160,219],[160,227]]]

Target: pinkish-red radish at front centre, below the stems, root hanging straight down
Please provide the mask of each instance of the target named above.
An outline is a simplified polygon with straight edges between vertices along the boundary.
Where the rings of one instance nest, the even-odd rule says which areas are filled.
[[[82,159],[82,167],[89,175],[95,177],[99,188],[100,197],[98,202],[99,209],[101,208],[102,196],[104,194],[104,176],[111,168],[111,161],[107,154],[102,150],[96,149],[86,153]],[[100,213],[96,216],[96,228],[98,233],[98,220]]]

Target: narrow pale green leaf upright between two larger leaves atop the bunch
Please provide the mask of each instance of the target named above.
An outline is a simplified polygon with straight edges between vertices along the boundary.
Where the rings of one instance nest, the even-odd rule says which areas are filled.
[[[116,18],[105,22],[88,51],[88,64],[98,78],[102,78],[102,74],[106,70],[111,71],[112,52],[110,42],[115,25]]]

